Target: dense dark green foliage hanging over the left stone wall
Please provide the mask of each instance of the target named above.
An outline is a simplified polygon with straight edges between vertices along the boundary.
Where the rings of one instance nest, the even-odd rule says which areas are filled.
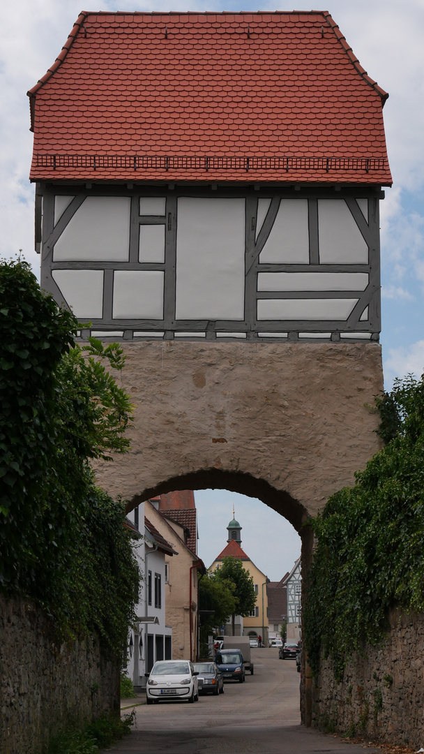
[[[128,448],[127,394],[105,368],[122,350],[91,339],[41,292],[29,265],[0,265],[0,589],[35,599],[63,637],[120,652],[138,596],[124,506],[91,458]]]

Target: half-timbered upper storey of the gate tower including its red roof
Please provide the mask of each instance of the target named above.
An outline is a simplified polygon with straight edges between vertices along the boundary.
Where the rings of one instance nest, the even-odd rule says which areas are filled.
[[[386,97],[327,12],[81,13],[29,92],[43,286],[106,337],[377,339]]]

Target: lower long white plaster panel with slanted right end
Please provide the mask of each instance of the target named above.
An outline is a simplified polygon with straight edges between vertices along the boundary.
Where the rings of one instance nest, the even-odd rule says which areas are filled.
[[[358,299],[259,299],[258,320],[346,320]]]

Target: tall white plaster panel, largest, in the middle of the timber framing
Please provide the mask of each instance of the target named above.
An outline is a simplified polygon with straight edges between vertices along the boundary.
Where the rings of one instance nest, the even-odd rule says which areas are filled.
[[[176,316],[243,320],[245,200],[178,198]]]

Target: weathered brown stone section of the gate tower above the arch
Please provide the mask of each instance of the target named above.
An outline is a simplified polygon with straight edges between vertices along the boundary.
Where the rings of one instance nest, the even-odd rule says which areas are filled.
[[[131,452],[96,467],[133,501],[221,487],[297,528],[379,449],[377,343],[139,342],[119,375],[135,404]]]

